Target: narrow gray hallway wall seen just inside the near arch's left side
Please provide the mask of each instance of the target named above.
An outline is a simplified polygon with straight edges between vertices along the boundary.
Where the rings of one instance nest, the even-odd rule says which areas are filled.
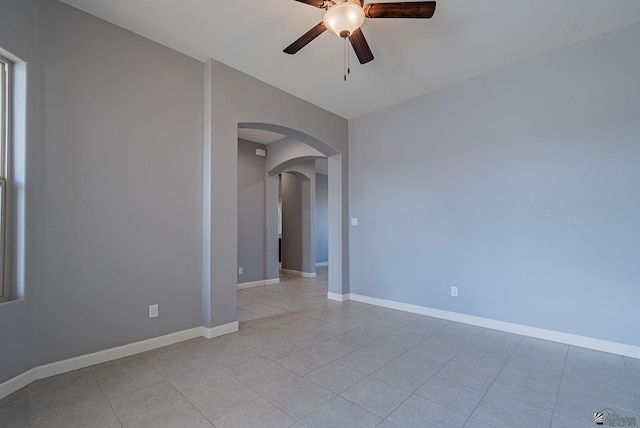
[[[238,140],[238,284],[265,276],[265,159],[263,144]]]

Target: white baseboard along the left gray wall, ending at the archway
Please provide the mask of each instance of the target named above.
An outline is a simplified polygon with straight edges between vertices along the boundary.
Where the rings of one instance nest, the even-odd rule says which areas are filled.
[[[80,355],[78,357],[69,358],[67,360],[57,361],[55,363],[34,367],[31,370],[19,374],[18,376],[13,377],[3,383],[0,383],[0,399],[13,394],[20,388],[24,388],[31,382],[34,382],[38,379],[44,379],[73,370],[93,366],[95,364],[106,363],[108,361],[117,360],[118,358],[124,358],[130,355],[139,354],[141,352],[151,351],[163,346],[173,345],[174,343],[178,342],[184,342],[185,340],[193,339],[195,337],[202,336],[207,339],[213,339],[214,337],[236,332],[239,328],[240,323],[238,321],[216,326],[213,328],[195,327],[164,336],[153,337],[151,339],[142,340],[140,342],[129,343],[127,345],[117,346],[115,348],[105,349],[103,351]]]

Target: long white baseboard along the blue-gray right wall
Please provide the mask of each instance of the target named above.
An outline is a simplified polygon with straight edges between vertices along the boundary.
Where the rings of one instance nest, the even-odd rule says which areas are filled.
[[[332,294],[333,296],[331,296]],[[412,312],[415,314],[442,318],[449,321],[476,325],[478,327],[520,334],[522,336],[529,336],[538,339],[549,340],[552,342],[564,343],[566,345],[579,346],[581,348],[609,352],[611,354],[623,355],[626,357],[640,358],[640,346],[628,345],[626,343],[611,342],[608,340],[596,339],[593,337],[579,336],[577,334],[564,333],[561,331],[546,330],[543,328],[531,327],[522,324],[515,324],[490,318],[477,317],[474,315],[461,314],[458,312],[444,311],[441,309],[434,309],[426,306],[411,305],[409,303],[395,302],[393,300],[362,296],[360,294],[349,293],[339,295],[329,293],[328,298],[332,300],[339,300],[340,298],[342,298],[343,300],[340,301],[353,300],[356,302],[368,303],[385,308],[398,309],[405,312]]]

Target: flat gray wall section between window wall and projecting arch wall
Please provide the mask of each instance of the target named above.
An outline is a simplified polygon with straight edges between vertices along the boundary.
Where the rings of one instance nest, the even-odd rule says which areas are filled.
[[[200,326],[202,63],[55,1],[39,23],[38,363]]]

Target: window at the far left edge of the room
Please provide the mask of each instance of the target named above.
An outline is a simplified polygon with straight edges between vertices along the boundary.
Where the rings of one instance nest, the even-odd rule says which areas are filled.
[[[7,254],[7,178],[9,176],[9,95],[11,63],[0,56],[0,302],[11,297],[10,283],[6,278]]]

